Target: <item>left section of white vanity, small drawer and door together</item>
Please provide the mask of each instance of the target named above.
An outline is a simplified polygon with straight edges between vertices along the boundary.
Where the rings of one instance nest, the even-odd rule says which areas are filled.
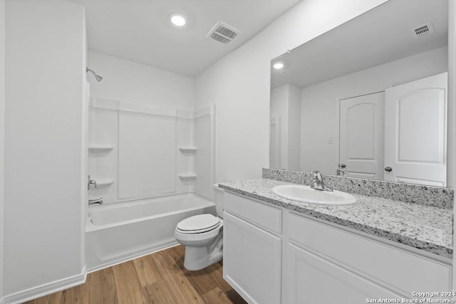
[[[249,303],[281,303],[281,211],[224,194],[223,277]]]

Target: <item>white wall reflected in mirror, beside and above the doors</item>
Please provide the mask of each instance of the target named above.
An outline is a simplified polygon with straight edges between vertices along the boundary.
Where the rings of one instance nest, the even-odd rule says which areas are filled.
[[[336,174],[338,165],[337,99],[373,93],[447,71],[447,48],[392,61],[302,90],[301,169]],[[333,137],[334,144],[328,144]]]

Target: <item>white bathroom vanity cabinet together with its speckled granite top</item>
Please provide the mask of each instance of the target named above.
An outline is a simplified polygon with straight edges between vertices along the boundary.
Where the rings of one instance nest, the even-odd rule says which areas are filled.
[[[276,196],[271,189],[281,184],[291,183],[219,184],[224,278],[249,303],[378,303],[368,301],[440,293],[424,297],[435,300],[451,291],[452,209],[356,193],[351,206],[320,206]]]

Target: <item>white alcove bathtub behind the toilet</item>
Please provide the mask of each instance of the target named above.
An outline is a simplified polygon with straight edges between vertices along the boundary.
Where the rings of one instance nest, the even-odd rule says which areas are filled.
[[[179,221],[208,213],[216,214],[214,203],[196,194],[90,206],[86,221],[88,272],[174,246]]]

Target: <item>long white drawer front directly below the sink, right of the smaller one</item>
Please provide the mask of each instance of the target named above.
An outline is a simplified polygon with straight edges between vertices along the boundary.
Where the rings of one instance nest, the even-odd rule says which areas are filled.
[[[451,290],[445,263],[291,213],[289,240],[403,295]]]

